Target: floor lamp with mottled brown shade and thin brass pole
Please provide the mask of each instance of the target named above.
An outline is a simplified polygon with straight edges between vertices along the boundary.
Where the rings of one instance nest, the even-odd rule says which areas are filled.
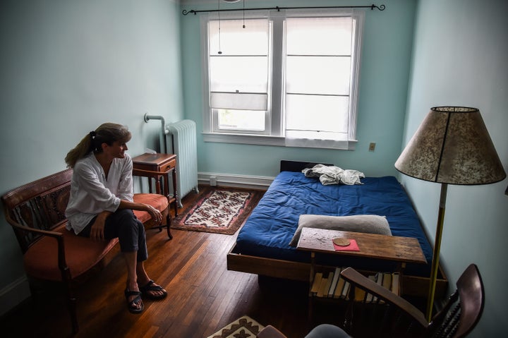
[[[433,107],[395,162],[402,174],[441,183],[433,262],[427,302],[432,317],[439,267],[444,205],[448,184],[477,185],[502,181],[506,173],[476,108]]]

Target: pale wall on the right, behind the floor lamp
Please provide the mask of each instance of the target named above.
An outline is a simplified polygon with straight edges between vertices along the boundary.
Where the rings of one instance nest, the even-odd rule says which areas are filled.
[[[478,107],[506,171],[508,1],[425,0],[417,13],[404,145],[430,107]],[[440,185],[401,181],[435,238]],[[472,337],[508,336],[507,184],[448,187],[441,261],[452,285],[472,262],[485,284],[485,311]]]

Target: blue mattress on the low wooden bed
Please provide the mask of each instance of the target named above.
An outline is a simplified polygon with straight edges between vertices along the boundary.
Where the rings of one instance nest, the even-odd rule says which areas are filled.
[[[394,176],[367,177],[361,182],[355,186],[323,186],[301,172],[282,171],[239,231],[236,252],[309,262],[309,253],[289,246],[300,215],[381,215],[387,217],[393,236],[418,239],[428,261],[427,265],[408,264],[404,273],[428,276],[432,248],[404,188]],[[317,259],[324,264],[364,270],[389,271],[396,267],[391,262],[340,255],[321,255]]]

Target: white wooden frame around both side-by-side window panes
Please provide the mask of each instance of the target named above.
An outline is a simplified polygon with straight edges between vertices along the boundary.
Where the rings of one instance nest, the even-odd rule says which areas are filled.
[[[291,13],[290,13],[291,12]],[[332,15],[330,15],[332,13]],[[339,142],[334,141],[333,145],[327,140],[322,142],[311,143],[304,145],[303,143],[291,144],[286,142],[284,135],[284,97],[285,97],[285,80],[284,72],[285,67],[285,50],[284,50],[284,20],[286,16],[353,16],[355,18],[355,36],[353,37],[356,44],[353,44],[352,62],[351,67],[351,89],[350,89],[350,108],[349,108],[349,133],[347,140]],[[248,133],[248,132],[214,132],[214,121],[212,109],[210,109],[210,88],[209,88],[209,68],[208,68],[208,20],[217,20],[218,13],[210,13],[201,17],[201,56],[202,56],[202,102],[203,102],[203,140],[205,142],[218,142],[218,143],[241,143],[241,144],[255,144],[255,145],[278,145],[286,147],[316,147],[316,148],[333,148],[339,150],[354,150],[357,143],[356,140],[356,121],[357,121],[357,102],[358,102],[358,81],[360,73],[360,55],[361,55],[361,39],[363,30],[363,19],[365,13],[363,10],[313,10],[313,11],[250,11],[244,13],[220,13],[221,20],[231,18],[240,19],[245,17],[248,23],[249,18],[263,18],[268,17],[272,22],[272,68],[270,71],[270,111],[267,114],[267,133]],[[279,71],[280,70],[280,71]],[[215,126],[216,127],[216,126]],[[319,141],[319,140],[318,140]]]

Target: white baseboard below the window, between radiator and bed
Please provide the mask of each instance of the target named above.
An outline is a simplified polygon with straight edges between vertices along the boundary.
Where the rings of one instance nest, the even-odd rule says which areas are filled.
[[[214,178],[217,186],[232,186],[237,188],[254,188],[266,190],[272,184],[274,177],[248,176],[238,174],[214,174],[207,172],[198,173],[198,182],[210,184],[210,178]]]

